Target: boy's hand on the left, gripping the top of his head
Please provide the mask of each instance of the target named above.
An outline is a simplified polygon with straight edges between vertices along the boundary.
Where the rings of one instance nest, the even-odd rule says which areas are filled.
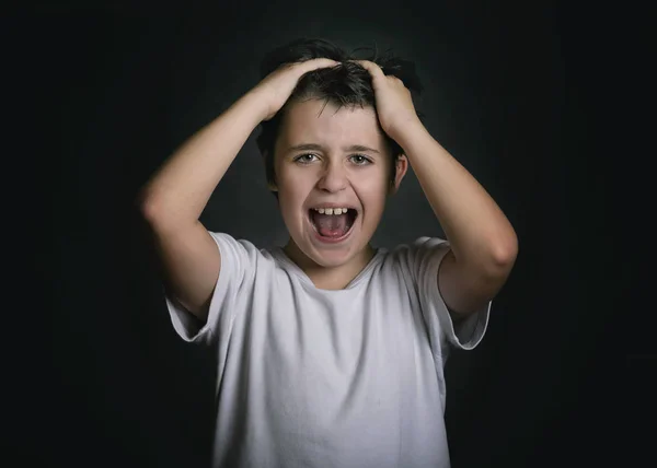
[[[306,73],[337,65],[339,62],[335,60],[316,58],[302,62],[286,63],[274,70],[253,89],[261,96],[265,106],[263,120],[269,120],[280,110],[287,100],[289,100],[292,91],[295,91],[299,79]]]

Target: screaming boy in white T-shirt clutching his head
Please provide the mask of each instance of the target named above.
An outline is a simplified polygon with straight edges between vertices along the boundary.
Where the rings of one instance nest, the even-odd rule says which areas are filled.
[[[482,339],[514,229],[422,125],[408,62],[300,39],[264,72],[141,201],[176,331],[218,344],[214,466],[449,467],[442,367]],[[269,250],[198,221],[258,124],[290,235]],[[376,249],[408,163],[448,238]]]

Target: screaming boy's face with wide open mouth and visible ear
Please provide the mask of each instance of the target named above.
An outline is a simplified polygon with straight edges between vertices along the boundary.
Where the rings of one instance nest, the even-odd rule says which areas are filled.
[[[392,160],[373,108],[338,109],[319,100],[292,104],[276,141],[272,187],[292,242],[322,267],[357,258],[406,166],[401,157],[391,183]],[[335,214],[336,208],[348,210]]]

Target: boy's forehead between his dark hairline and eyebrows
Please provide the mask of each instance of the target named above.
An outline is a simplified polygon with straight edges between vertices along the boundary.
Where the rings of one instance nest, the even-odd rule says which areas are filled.
[[[382,150],[384,138],[372,107],[337,107],[321,100],[291,104],[278,141],[285,145],[316,143],[326,148],[366,145]]]

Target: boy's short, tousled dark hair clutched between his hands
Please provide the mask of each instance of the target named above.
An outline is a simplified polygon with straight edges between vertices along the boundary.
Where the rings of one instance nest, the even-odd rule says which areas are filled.
[[[366,54],[360,55],[359,52]],[[342,66],[318,69],[304,74],[283,108],[272,119],[261,122],[261,133],[256,139],[256,143],[265,157],[265,172],[268,183],[276,180],[274,147],[289,103],[318,98],[324,100],[338,108],[343,106],[370,106],[376,109],[374,91],[369,72],[358,63],[349,60],[365,59],[377,63],[381,67],[383,73],[402,80],[412,93],[419,94],[423,89],[415,72],[415,65],[408,60],[394,57],[390,50],[381,55],[376,47],[358,47],[351,52],[347,52],[339,46],[322,38],[302,37],[270,50],[261,63],[261,78],[264,79],[283,65],[302,62],[314,58],[330,58],[339,61]],[[417,114],[422,118],[422,114],[419,112]],[[403,153],[403,150],[388,134],[385,134],[385,140],[394,162]],[[392,180],[394,180],[394,176],[395,165],[393,164]]]

